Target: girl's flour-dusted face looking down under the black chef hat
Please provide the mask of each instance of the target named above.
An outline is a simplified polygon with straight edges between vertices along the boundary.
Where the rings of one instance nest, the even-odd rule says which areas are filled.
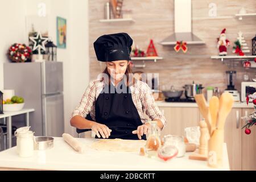
[[[106,67],[108,68],[109,75],[115,81],[120,81],[123,75],[125,75],[129,63],[130,61],[128,62],[127,60],[111,61],[106,62]]]

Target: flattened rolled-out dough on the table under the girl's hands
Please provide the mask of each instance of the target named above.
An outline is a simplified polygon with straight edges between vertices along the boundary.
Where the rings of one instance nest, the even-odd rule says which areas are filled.
[[[99,151],[139,152],[146,140],[101,139],[92,144],[92,148]]]

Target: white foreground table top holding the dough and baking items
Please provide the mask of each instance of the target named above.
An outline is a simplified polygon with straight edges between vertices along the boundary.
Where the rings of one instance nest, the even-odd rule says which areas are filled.
[[[230,170],[226,144],[224,165],[210,168],[206,161],[189,160],[187,152],[183,158],[167,162],[140,156],[138,152],[97,151],[90,144],[97,139],[78,138],[85,144],[84,154],[79,154],[63,138],[55,138],[54,147],[47,151],[35,151],[31,158],[20,158],[16,147],[0,152],[0,169],[46,169],[46,170]]]

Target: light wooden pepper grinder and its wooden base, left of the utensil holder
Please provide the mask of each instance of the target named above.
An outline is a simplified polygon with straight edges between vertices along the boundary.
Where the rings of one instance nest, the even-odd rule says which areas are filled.
[[[189,155],[189,159],[207,160],[208,159],[208,140],[210,139],[209,130],[205,120],[200,121],[200,140],[199,150]]]

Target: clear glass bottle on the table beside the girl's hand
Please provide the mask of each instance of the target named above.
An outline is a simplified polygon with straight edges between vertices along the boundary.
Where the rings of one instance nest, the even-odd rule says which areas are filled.
[[[149,158],[158,156],[158,148],[161,147],[160,129],[156,121],[150,121],[147,142],[145,146],[146,154]]]

